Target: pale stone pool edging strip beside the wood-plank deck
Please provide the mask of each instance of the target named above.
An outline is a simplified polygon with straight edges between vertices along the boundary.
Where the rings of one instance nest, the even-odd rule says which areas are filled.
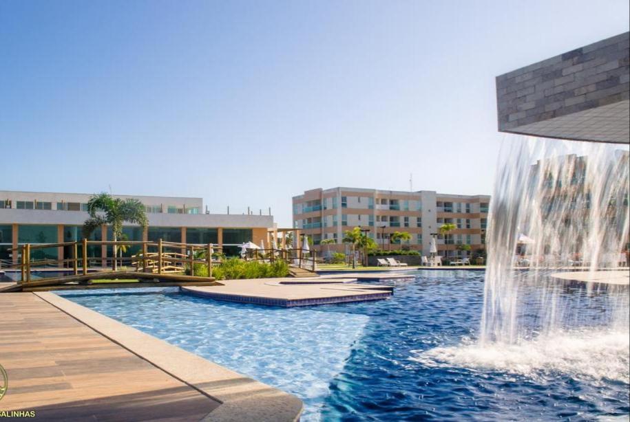
[[[113,320],[51,292],[34,293],[94,331],[160,368],[165,373],[216,400],[220,406],[204,421],[297,421],[302,401]]]

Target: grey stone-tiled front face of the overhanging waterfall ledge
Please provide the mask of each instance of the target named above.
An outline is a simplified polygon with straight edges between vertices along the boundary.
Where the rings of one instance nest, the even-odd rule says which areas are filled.
[[[629,99],[630,33],[496,77],[498,130]]]

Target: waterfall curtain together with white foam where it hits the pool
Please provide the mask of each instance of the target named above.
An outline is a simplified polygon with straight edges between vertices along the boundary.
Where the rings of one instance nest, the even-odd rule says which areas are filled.
[[[630,383],[627,146],[506,137],[487,232],[479,335],[436,366]],[[581,271],[620,284],[567,282]],[[570,277],[569,277],[570,278]]]

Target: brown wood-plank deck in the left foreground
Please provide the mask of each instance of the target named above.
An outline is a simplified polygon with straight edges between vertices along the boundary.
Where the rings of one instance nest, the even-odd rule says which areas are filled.
[[[198,421],[217,401],[33,293],[0,295],[1,410],[63,421]]]

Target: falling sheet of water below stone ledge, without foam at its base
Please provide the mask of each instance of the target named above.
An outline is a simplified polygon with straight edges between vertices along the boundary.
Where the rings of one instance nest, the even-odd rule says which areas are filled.
[[[628,172],[629,155],[620,146],[505,140],[487,232],[482,344],[518,344],[592,325],[588,300],[570,307],[552,274],[573,266],[591,274],[618,267],[629,234]],[[519,244],[519,236],[527,244]],[[519,263],[527,267],[515,267]],[[608,294],[607,318],[598,323],[627,332],[627,289]]]

